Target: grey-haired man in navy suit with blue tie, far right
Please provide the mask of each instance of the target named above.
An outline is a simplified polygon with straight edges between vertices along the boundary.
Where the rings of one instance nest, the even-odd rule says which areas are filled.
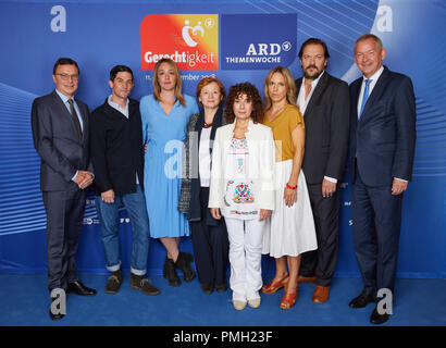
[[[351,208],[355,253],[364,287],[349,303],[351,308],[376,301],[380,290],[394,291],[402,192],[412,175],[413,86],[409,77],[383,66],[384,58],[379,37],[366,34],[356,41],[355,61],[363,77],[350,85]],[[388,316],[377,303],[370,321],[381,324]]]

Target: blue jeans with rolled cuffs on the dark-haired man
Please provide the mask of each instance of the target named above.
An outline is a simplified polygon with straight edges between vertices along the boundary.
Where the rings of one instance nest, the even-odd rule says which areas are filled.
[[[121,201],[127,210],[132,232],[132,268],[135,275],[145,275],[149,254],[149,217],[147,215],[146,199],[139,185],[135,194],[115,196],[113,203],[106,203],[100,196],[96,196],[96,208],[102,226],[102,245],[106,253],[107,270],[120,270],[120,238],[117,234],[117,214]]]

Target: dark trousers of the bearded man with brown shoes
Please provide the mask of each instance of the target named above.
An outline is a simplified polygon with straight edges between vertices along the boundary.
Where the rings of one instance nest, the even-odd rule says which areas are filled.
[[[313,211],[318,250],[303,252],[299,274],[315,276],[317,284],[330,286],[339,250],[339,185],[331,197],[322,197],[322,184],[308,185]]]

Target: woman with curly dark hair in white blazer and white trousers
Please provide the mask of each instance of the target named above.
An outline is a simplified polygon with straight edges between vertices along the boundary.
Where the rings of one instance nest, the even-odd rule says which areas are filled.
[[[230,88],[227,125],[216,129],[212,151],[209,208],[225,219],[230,238],[233,304],[260,306],[261,252],[267,220],[274,209],[275,150],[271,128],[260,124],[262,100],[257,88]]]

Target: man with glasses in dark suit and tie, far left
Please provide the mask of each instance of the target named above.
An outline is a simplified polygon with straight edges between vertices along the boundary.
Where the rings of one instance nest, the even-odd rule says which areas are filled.
[[[88,152],[88,107],[74,100],[79,69],[70,58],[53,67],[55,89],[36,98],[32,109],[34,147],[40,156],[40,189],[47,212],[48,288],[87,296],[96,290],[77,277],[76,250],[92,182]],[[53,320],[63,313],[53,313]]]

